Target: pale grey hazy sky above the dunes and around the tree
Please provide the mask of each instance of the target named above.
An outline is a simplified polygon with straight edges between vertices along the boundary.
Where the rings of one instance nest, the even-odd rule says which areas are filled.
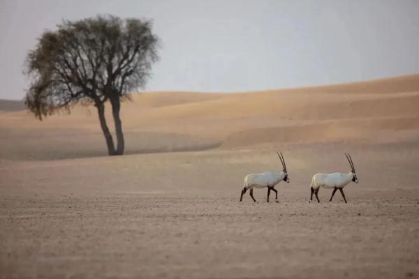
[[[0,0],[0,98],[29,86],[45,29],[97,14],[154,21],[147,91],[249,91],[419,73],[419,1]]]

